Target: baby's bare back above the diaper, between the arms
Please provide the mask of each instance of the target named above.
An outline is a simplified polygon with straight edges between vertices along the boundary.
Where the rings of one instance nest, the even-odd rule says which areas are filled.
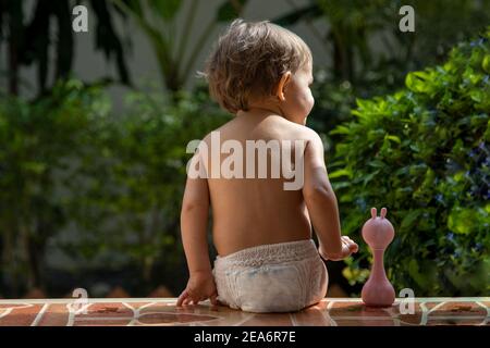
[[[220,161],[212,161],[209,157],[207,162],[212,235],[218,253],[226,256],[258,245],[310,238],[311,227],[302,189],[301,187],[298,189],[284,188],[284,183],[292,183],[294,178],[284,177],[282,166],[273,161],[274,154],[272,154],[279,156],[285,150],[284,154],[280,154],[281,163],[290,159],[294,163],[295,151],[297,151],[294,145],[306,145],[307,141],[305,127],[278,115],[259,117],[243,114],[216,132],[218,133],[215,133],[215,142],[211,142],[210,135],[205,138],[211,151],[216,151],[216,147],[212,149],[212,146],[216,145],[218,134],[221,146],[226,140],[236,140],[243,149],[243,171],[237,171],[234,165],[229,165],[230,162],[228,164],[223,162],[231,156],[230,153],[221,153]],[[252,148],[252,144],[256,148]],[[260,162],[260,158],[264,159],[264,157],[261,157],[260,150],[256,150],[265,144],[269,149],[277,149],[275,145],[281,149],[279,152],[271,150],[262,152],[262,154],[268,153],[266,163]],[[287,150],[291,151],[291,156]],[[235,157],[235,159],[237,158]],[[218,162],[220,173],[219,177],[216,177]],[[253,175],[252,172],[247,175],[247,167],[250,163],[254,163],[255,171]],[[265,178],[259,177],[260,165],[267,166]],[[235,170],[235,175],[243,173],[243,178],[223,177],[226,175],[223,171],[225,169]],[[215,177],[211,176],[211,173],[215,173]]]

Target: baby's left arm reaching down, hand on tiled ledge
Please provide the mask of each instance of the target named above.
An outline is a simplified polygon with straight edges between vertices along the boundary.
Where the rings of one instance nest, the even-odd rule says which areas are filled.
[[[211,299],[216,303],[216,285],[208,253],[207,226],[209,189],[206,178],[187,177],[181,211],[181,233],[189,271],[187,287],[177,306]]]

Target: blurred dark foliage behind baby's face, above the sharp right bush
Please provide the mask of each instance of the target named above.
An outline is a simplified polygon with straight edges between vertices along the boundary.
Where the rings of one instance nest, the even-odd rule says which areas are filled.
[[[404,4],[415,9],[415,33],[399,29]],[[302,22],[307,42],[316,37],[330,57],[329,65],[315,63],[316,108],[308,125],[333,147],[339,136],[327,134],[351,119],[356,98],[391,94],[404,86],[409,71],[443,62],[451,47],[488,25],[490,1],[310,0],[274,22]]]

